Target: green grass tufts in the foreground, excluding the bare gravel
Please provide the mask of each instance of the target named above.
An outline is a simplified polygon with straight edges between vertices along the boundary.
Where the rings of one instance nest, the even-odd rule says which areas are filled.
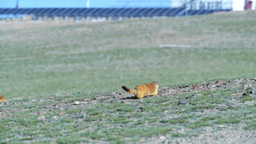
[[[222,111],[215,109],[215,103],[207,103],[208,107],[205,107],[204,103],[199,102],[210,101],[212,94],[220,94],[218,98],[223,100],[221,104],[229,104],[230,97],[226,96],[230,94],[229,90],[204,92],[201,98],[191,98],[190,101],[198,102],[197,106],[177,105],[175,102],[167,108],[163,105],[166,102],[183,100],[188,95],[195,95],[194,93],[175,97],[172,95],[148,97],[143,99],[144,101],[134,100],[127,103],[117,101],[115,104],[105,102],[79,107],[70,106],[68,110],[61,108],[67,107],[67,102],[64,102],[59,107],[55,107],[55,111],[48,112],[45,120],[38,120],[41,116],[38,112],[44,110],[44,106],[42,107],[40,102],[34,102],[32,112],[21,111],[18,118],[3,119],[0,124],[0,135],[3,138],[9,138],[12,143],[18,141],[127,143],[160,135],[172,135],[172,138],[198,136],[207,127],[214,128],[219,124],[246,124],[244,130],[254,130],[255,106],[242,105],[236,109]],[[76,97],[73,98],[76,99]],[[156,101],[158,102],[155,103]],[[140,108],[148,106],[153,109],[143,111]],[[15,110],[15,107],[7,107]],[[131,107],[132,111],[130,111]],[[200,111],[195,111],[196,109]],[[214,112],[206,114],[201,110]],[[59,115],[62,111],[66,111],[71,116],[78,116]],[[180,111],[183,112],[179,113]],[[55,116],[57,117],[54,118]],[[180,133],[180,130],[183,130],[183,133]],[[39,137],[40,140],[38,140]]]

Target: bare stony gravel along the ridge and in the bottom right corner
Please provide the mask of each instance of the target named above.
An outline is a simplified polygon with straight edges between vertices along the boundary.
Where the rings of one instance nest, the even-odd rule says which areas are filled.
[[[184,101],[179,101],[178,105],[189,103],[189,99],[193,97],[201,96],[201,94],[196,94],[202,91],[212,91],[217,89],[229,89],[230,91],[236,90],[236,93],[230,95],[229,101],[236,103],[236,106],[241,105],[253,106],[255,101],[246,101],[245,103],[240,103],[236,99],[242,97],[243,95],[256,95],[256,78],[239,78],[234,80],[227,81],[214,81],[203,84],[189,84],[177,87],[160,87],[159,95],[160,96],[177,96],[184,93],[195,93],[186,98]],[[237,89],[240,89],[237,91]],[[213,95],[218,96],[218,95]],[[14,112],[25,112],[30,109],[30,107],[15,107],[15,108],[6,108],[7,105],[12,106],[31,106],[32,104],[42,103],[43,105],[35,105],[35,108],[40,109],[37,113],[31,113],[31,115],[38,115],[38,120],[44,120],[45,123],[52,123],[57,118],[75,118],[78,121],[83,121],[83,115],[85,113],[73,113],[66,114],[65,110],[72,110],[73,108],[78,107],[93,107],[97,103],[107,102],[114,103],[124,102],[129,103],[131,101],[143,101],[137,100],[136,97],[132,94],[126,92],[120,94],[111,94],[111,95],[102,95],[94,98],[82,99],[77,101],[58,101],[56,96],[51,96],[48,98],[41,99],[32,99],[28,101],[16,101],[9,100],[4,103],[0,103],[0,119],[9,119],[17,118],[19,114],[14,114]],[[144,98],[147,99],[147,98]],[[51,101],[51,102],[50,102]],[[219,107],[229,107],[222,106]],[[59,116],[52,118],[46,118],[44,114],[47,112],[62,110]],[[214,112],[214,109],[207,109],[205,113]],[[230,126],[219,124],[216,127],[206,127],[201,135],[193,137],[172,137],[172,135],[157,136],[152,138],[143,139],[142,143],[256,143],[256,131],[255,130],[243,130],[245,124],[232,124]],[[183,130],[179,131],[183,133]]]

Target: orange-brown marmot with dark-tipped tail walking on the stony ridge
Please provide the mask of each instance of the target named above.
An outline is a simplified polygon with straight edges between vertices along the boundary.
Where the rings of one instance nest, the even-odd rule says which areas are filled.
[[[125,86],[122,86],[122,88],[125,91],[127,91],[128,93],[133,93],[138,99],[142,99],[143,97],[148,95],[157,96],[158,87],[159,87],[158,82],[152,82],[151,84],[137,85],[134,89],[129,89]]]

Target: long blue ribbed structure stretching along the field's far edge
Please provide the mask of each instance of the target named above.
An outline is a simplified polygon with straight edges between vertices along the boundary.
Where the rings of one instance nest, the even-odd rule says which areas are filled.
[[[231,9],[193,10],[185,7],[178,8],[108,8],[108,9],[83,9],[83,8],[42,8],[42,9],[0,9],[0,16],[22,17],[33,15],[33,19],[39,17],[84,17],[108,19],[135,18],[135,17],[173,17],[195,14],[212,14],[218,11],[230,11]]]

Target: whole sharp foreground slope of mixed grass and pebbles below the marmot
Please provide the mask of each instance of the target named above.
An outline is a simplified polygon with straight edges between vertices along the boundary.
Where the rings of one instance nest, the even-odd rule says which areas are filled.
[[[250,101],[256,97],[237,97],[238,85],[143,101],[111,99],[73,105],[70,101],[84,100],[83,95],[73,94],[13,101],[0,115],[0,143],[160,143],[160,135],[171,143],[193,139],[197,143],[250,143],[256,134],[256,105]],[[178,101],[188,103],[179,105]]]

